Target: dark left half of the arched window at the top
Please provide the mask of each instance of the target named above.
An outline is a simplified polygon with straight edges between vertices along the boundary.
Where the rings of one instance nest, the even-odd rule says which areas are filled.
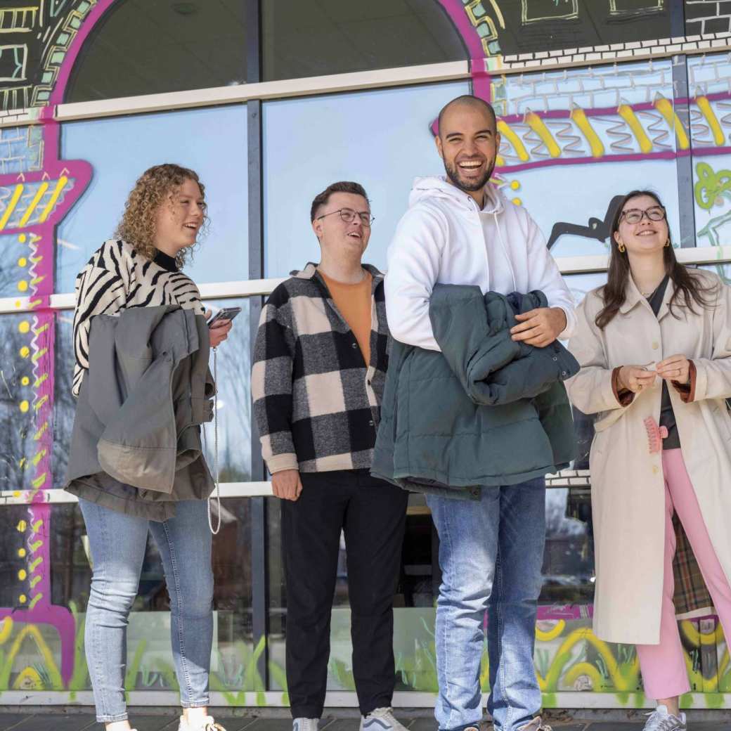
[[[65,101],[245,83],[245,7],[241,0],[114,3],[83,46]]]

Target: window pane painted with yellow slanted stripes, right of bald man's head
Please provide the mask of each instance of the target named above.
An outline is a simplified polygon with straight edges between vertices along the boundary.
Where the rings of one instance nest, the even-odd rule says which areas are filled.
[[[606,254],[616,196],[654,189],[678,243],[678,142],[670,59],[510,75],[493,86],[502,189],[556,257]],[[664,105],[660,101],[664,100]]]

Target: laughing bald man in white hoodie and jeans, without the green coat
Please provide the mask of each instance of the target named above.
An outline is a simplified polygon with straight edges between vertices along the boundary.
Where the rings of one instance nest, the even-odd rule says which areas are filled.
[[[482,99],[459,96],[439,113],[436,150],[446,175],[414,181],[388,251],[386,311],[396,340],[440,350],[429,319],[435,284],[472,284],[483,294],[503,295],[539,289],[548,307],[518,315],[512,338],[544,347],[571,335],[574,303],[545,238],[529,213],[490,182],[499,145],[495,111]],[[427,496],[442,567],[436,720],[440,731],[480,726],[487,611],[488,711],[496,731],[548,730],[537,715],[541,693],[533,664],[545,479],[482,487],[480,494],[479,501]]]

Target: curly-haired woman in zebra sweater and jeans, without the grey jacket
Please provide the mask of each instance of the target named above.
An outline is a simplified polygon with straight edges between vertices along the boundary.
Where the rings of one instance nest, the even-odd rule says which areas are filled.
[[[76,279],[73,393],[88,371],[91,319],[126,308],[179,305],[205,314],[194,282],[180,270],[205,225],[204,187],[173,164],[146,170],[129,194],[116,240],[106,241]],[[211,346],[230,322],[210,330]],[[121,485],[129,491],[135,488]],[[205,499],[175,503],[159,520],[139,501],[105,499],[93,486],[69,486],[79,497],[94,573],[86,610],[86,659],[96,718],[106,731],[129,731],[124,697],[126,626],[137,596],[148,531],[155,539],[170,594],[170,630],[183,715],[180,731],[223,731],[208,715],[213,642],[211,531]]]

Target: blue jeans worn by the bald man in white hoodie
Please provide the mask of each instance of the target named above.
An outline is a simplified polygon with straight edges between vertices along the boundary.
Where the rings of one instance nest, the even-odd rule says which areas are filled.
[[[480,725],[487,613],[496,731],[517,731],[541,708],[533,663],[545,544],[545,480],[482,488],[479,502],[427,496],[439,533],[434,715],[440,731]]]

